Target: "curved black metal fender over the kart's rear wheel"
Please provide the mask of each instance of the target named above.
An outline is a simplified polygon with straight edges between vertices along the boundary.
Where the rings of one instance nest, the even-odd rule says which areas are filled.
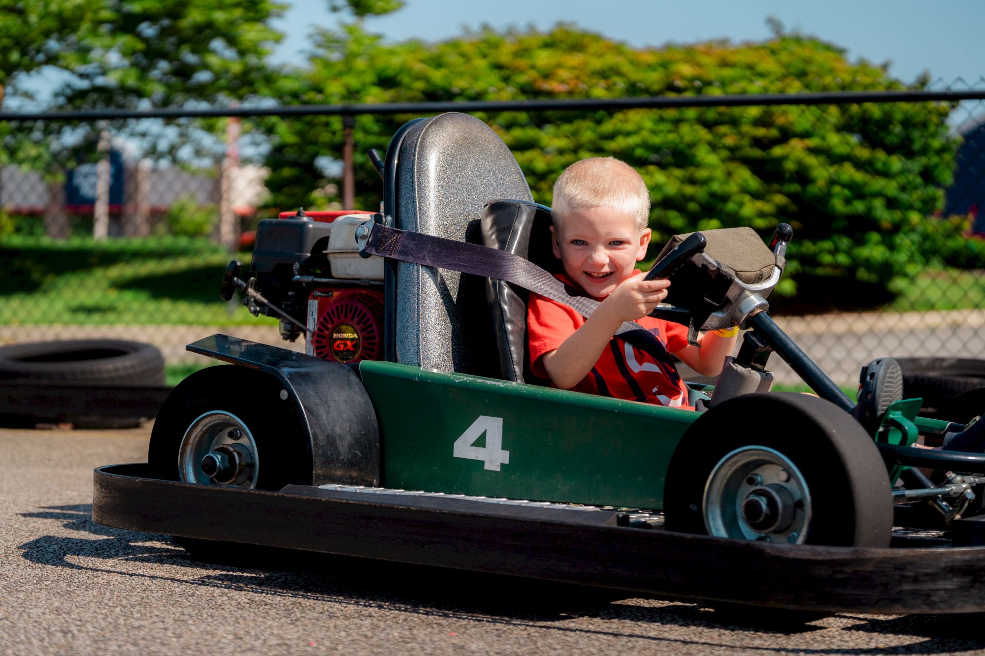
[[[229,335],[212,335],[186,348],[257,369],[284,385],[304,427],[313,485],[380,485],[376,412],[351,367]]]

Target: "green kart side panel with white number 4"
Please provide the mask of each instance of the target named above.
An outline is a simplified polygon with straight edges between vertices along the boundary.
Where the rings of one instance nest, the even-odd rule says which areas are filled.
[[[362,361],[360,374],[390,489],[661,509],[698,417],[386,361]]]

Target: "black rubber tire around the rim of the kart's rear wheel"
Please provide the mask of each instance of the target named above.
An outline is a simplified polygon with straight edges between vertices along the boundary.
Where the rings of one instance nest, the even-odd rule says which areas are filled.
[[[182,380],[167,397],[151,432],[147,462],[154,478],[178,481],[178,452],[188,426],[201,415],[226,411],[256,440],[257,490],[311,485],[311,454],[296,405],[282,399],[274,376],[236,365],[210,366]]]

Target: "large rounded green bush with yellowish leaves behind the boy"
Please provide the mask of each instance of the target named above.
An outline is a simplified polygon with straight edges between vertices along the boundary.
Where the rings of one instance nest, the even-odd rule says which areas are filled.
[[[437,43],[385,43],[349,25],[320,34],[310,69],[282,82],[296,102],[614,98],[903,89],[884,67],[797,33],[757,43],[633,48],[558,26],[548,33],[483,30]],[[654,242],[671,234],[791,224],[801,276],[882,284],[921,266],[920,230],[943,206],[955,144],[940,102],[751,105],[623,111],[477,114],[502,137],[536,200],[567,164],[613,156],[649,185]],[[385,148],[413,116],[360,116],[357,186],[378,202],[367,148]],[[315,160],[342,150],[338,117],[270,126],[274,202],[307,205],[324,185]],[[791,290],[787,290],[791,291]]]

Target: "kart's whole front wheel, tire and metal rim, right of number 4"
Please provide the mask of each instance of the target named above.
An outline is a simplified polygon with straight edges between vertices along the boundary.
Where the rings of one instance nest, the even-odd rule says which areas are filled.
[[[875,442],[795,393],[715,406],[688,430],[664,493],[667,529],[782,544],[887,547],[892,492]]]

